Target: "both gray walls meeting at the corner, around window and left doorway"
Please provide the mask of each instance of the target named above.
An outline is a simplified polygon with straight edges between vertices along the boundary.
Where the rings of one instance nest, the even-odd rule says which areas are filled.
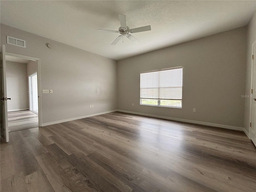
[[[6,35],[26,40],[27,48],[6,44]],[[53,89],[42,94],[43,123],[118,108],[244,126],[244,27],[120,60],[117,66],[115,60],[1,24],[2,44],[7,52],[41,59],[42,89]],[[184,67],[182,109],[140,106],[140,72],[174,66]]]

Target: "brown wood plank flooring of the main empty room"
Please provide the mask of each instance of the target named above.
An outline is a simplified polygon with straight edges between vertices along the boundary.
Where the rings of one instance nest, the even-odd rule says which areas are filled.
[[[243,132],[109,114],[10,132],[1,192],[256,192]]]

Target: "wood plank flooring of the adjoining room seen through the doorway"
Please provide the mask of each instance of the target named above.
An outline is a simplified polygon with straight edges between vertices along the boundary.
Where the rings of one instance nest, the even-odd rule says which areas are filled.
[[[29,110],[8,112],[9,132],[32,127],[38,127],[37,114]]]

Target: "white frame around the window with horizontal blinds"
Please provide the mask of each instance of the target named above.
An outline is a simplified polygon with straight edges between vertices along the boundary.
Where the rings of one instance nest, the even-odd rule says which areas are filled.
[[[182,109],[182,98],[183,98],[183,67],[182,66],[178,66],[178,67],[172,67],[172,68],[164,68],[164,69],[160,69],[160,70],[151,70],[151,71],[146,71],[146,72],[140,72],[140,75],[143,73],[150,73],[150,72],[158,72],[158,71],[165,71],[165,70],[174,70],[174,69],[182,69],[182,94],[181,94],[181,99],[152,99],[152,98],[140,98],[140,105],[144,105],[144,106],[157,106],[157,107],[168,107],[168,108],[178,108],[178,109]],[[140,96],[141,96],[141,76],[140,76]],[[148,99],[148,100],[157,100],[157,105],[154,104],[142,104],[142,100],[143,99]],[[161,100],[177,100],[181,102],[181,107],[179,106],[166,106],[166,105],[161,105]]]

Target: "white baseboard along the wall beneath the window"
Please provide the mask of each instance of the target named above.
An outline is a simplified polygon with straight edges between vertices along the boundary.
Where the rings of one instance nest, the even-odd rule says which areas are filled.
[[[131,113],[131,114],[137,114],[137,115],[144,115],[144,116],[149,116],[149,117],[156,117],[156,118],[161,118],[161,119],[168,119],[168,120],[186,122],[186,123],[193,123],[193,124],[200,124],[200,125],[206,125],[206,126],[213,126],[213,127],[220,127],[220,128],[244,131],[244,128],[242,128],[242,127],[235,127],[235,126],[208,123],[208,122],[201,122],[201,121],[194,121],[194,120],[186,120],[186,119],[180,119],[180,118],[172,118],[172,117],[152,115],[152,114],[146,114],[146,113],[138,113],[138,112],[132,112],[132,111],[125,111],[125,110],[117,110],[117,111],[125,112],[125,113]]]

